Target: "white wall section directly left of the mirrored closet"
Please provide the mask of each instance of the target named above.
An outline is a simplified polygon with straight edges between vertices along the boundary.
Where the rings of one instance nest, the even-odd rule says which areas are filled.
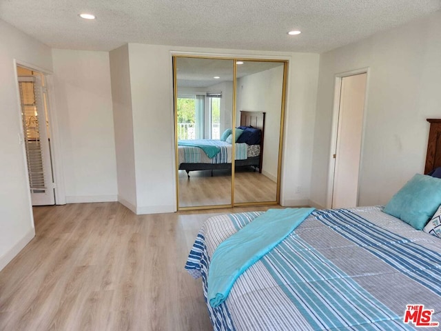
[[[176,210],[172,59],[167,46],[129,45],[136,212]]]

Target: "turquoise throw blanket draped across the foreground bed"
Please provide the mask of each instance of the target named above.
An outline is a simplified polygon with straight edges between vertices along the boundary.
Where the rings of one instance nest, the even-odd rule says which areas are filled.
[[[209,304],[217,307],[223,303],[240,274],[283,241],[313,210],[270,209],[220,243],[209,267]]]

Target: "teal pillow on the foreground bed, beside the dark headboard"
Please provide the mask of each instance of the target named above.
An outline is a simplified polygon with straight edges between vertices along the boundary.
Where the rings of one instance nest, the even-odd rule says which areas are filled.
[[[384,207],[384,212],[422,230],[441,205],[441,179],[416,174]]]

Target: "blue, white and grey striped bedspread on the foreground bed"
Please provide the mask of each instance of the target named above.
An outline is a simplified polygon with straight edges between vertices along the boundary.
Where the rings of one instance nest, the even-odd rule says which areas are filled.
[[[185,268],[203,277],[205,298],[217,245],[259,214],[216,216],[201,228]],[[222,305],[207,307],[215,330],[413,330],[407,305],[441,322],[441,240],[369,207],[315,210]]]

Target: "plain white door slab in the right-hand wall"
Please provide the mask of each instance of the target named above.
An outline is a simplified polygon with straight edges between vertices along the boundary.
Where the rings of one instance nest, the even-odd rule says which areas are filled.
[[[342,77],[332,208],[351,208],[358,205],[366,81],[366,73]]]

